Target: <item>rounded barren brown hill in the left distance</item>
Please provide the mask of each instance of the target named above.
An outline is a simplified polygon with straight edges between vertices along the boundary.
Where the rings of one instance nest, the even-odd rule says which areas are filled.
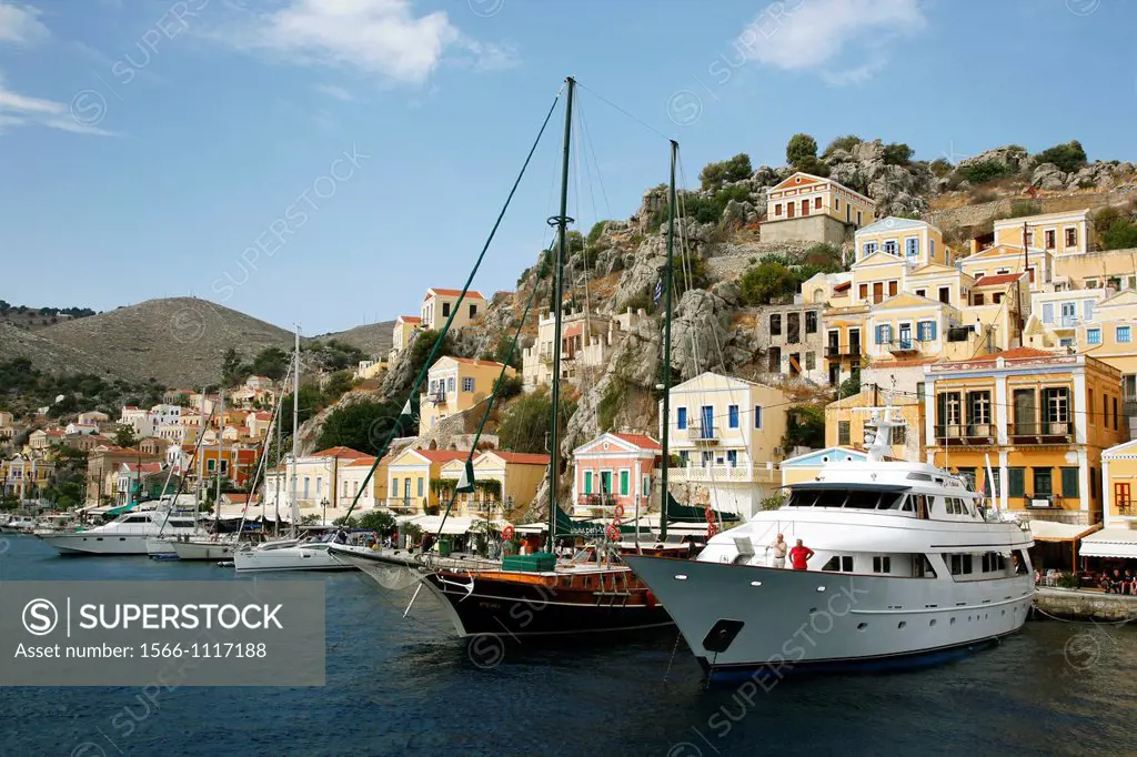
[[[153,377],[168,386],[219,382],[222,357],[230,347],[251,359],[265,347],[290,349],[292,344],[292,334],[283,328],[190,297],[147,300],[48,326],[36,335],[69,348],[73,360],[78,359],[76,352],[83,353],[92,365],[106,366],[125,378]],[[36,355],[28,357],[43,369],[65,367],[41,361]]]

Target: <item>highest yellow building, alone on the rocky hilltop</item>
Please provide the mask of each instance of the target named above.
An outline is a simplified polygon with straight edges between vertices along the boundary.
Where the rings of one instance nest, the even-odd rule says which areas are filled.
[[[845,242],[850,231],[871,224],[875,203],[830,178],[804,172],[766,191],[762,241]]]

